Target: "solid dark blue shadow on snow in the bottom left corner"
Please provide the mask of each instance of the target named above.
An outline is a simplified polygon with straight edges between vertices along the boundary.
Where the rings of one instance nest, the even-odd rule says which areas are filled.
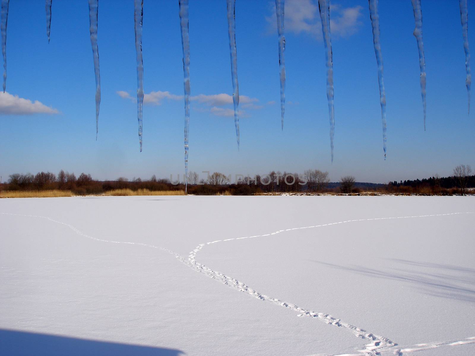
[[[179,356],[180,350],[0,329],[0,355]]]

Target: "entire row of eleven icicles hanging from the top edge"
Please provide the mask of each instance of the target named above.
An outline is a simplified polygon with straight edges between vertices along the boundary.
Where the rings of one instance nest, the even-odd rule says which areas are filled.
[[[101,103],[101,78],[99,72],[99,49],[97,46],[97,13],[98,0],[89,1],[89,24],[91,46],[94,58],[95,73],[95,119],[96,119],[96,140],[99,123],[99,106]],[[142,107],[143,107],[143,61],[142,61],[142,19],[143,0],[134,1],[134,27],[135,27],[135,50],[137,56],[137,120],[139,125],[140,151],[142,151]],[[188,1],[179,0],[181,44],[183,50],[183,75],[184,75],[184,98],[185,98],[185,185],[188,183],[188,131],[190,126],[190,38],[188,31]],[[237,81],[237,49],[236,49],[236,0],[227,1],[228,16],[228,37],[229,53],[231,58],[231,78],[233,85],[234,123],[236,127],[237,148],[239,149],[239,85]],[[378,83],[380,89],[381,120],[383,128],[383,150],[386,159],[386,93],[384,90],[383,58],[380,45],[380,25],[378,15],[379,0],[368,0],[370,7],[371,27],[373,32],[374,52],[378,64]],[[426,62],[424,58],[424,44],[422,41],[422,10],[420,0],[411,0],[414,10],[415,29],[414,36],[417,40],[420,67],[420,89],[424,110],[424,130],[426,129]],[[7,83],[7,22],[8,8],[10,0],[1,0],[1,47],[3,55],[3,92],[5,93]],[[48,43],[51,28],[51,5],[52,0],[46,0],[46,22]],[[466,88],[468,94],[468,113],[470,113],[470,51],[468,48],[468,11],[467,0],[459,0],[460,19],[462,24],[462,35],[464,39],[465,65],[466,65]],[[280,107],[281,126],[284,129],[285,112],[285,37],[284,37],[284,7],[285,0],[276,0],[277,34],[279,44],[279,71],[280,71]],[[335,129],[334,108],[333,108],[333,55],[332,40],[330,32],[330,0],[318,0],[320,19],[322,21],[323,43],[325,46],[325,59],[327,68],[327,100],[328,113],[330,118],[330,147],[331,159],[333,162],[333,134]]]

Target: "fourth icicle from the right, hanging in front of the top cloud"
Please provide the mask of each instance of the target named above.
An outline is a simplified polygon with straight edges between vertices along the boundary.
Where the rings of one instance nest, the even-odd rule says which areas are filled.
[[[320,19],[322,19],[323,43],[325,44],[325,59],[327,67],[327,100],[328,114],[330,117],[330,150],[333,162],[333,134],[335,132],[335,119],[333,108],[333,54],[332,38],[330,36],[330,0],[318,0]]]

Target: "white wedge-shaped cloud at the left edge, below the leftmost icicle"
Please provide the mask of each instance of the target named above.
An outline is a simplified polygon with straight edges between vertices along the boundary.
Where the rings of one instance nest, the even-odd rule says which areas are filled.
[[[38,100],[20,98],[8,92],[0,91],[0,115],[31,115],[31,114],[57,114],[57,109],[46,106]]]

